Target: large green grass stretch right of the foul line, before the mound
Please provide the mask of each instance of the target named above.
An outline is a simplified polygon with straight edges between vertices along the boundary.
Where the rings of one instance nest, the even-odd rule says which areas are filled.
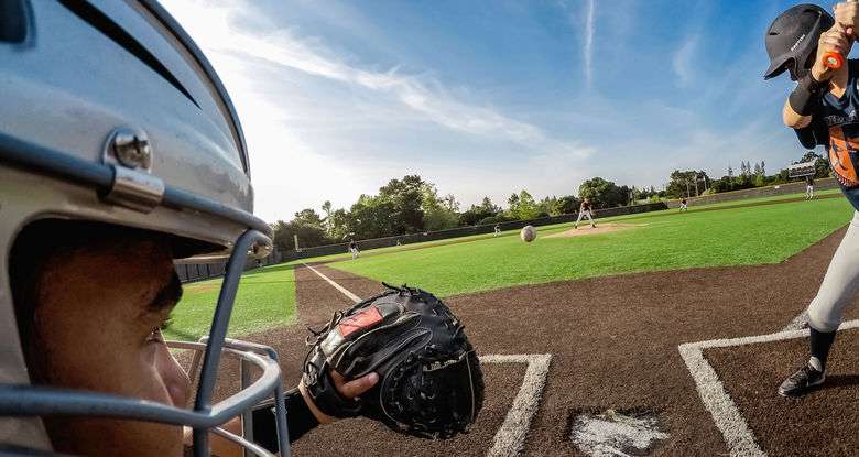
[[[439,295],[606,274],[778,263],[850,220],[842,198],[638,218],[637,229],[575,238],[517,237],[390,252],[329,264]],[[541,235],[544,235],[541,231]]]

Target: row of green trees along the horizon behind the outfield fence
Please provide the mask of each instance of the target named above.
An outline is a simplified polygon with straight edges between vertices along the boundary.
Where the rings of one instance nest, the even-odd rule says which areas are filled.
[[[808,152],[798,162],[809,161],[816,162],[818,177],[828,175],[828,164],[825,159]],[[389,181],[376,195],[360,195],[349,208],[335,209],[330,202],[325,202],[322,211],[306,208],[295,213],[295,217],[290,221],[278,220],[272,224],[274,244],[281,251],[289,251],[295,249],[295,236],[298,238],[300,248],[309,248],[352,239],[393,237],[559,216],[576,213],[584,198],[588,198],[595,208],[601,209],[789,181],[787,170],[766,175],[765,166],[764,162],[752,165],[743,161],[739,173],[735,174],[733,168],[729,166],[727,174],[718,179],[710,178],[704,171],[675,170],[662,189],[656,189],[654,186],[638,188],[617,185],[601,177],[592,177],[581,183],[578,195],[553,195],[537,199],[522,189],[508,197],[505,208],[497,205],[489,197],[483,197],[479,204],[470,205],[468,208],[460,208],[459,202],[453,194],[439,195],[433,183],[418,175],[406,175]]]

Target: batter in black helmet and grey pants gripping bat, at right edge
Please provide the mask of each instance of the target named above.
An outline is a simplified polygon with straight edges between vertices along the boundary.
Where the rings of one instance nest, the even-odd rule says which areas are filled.
[[[859,177],[851,151],[859,148],[859,62],[839,68],[824,64],[830,53],[850,53],[859,28],[859,3],[841,2],[835,19],[826,10],[802,4],[782,13],[765,35],[772,59],[764,77],[789,70],[797,80],[782,109],[784,124],[805,146],[826,145],[829,164],[847,199],[859,208]],[[828,61],[828,58],[827,58]],[[809,68],[811,67],[811,68]],[[809,182],[806,182],[809,183]],[[809,185],[808,189],[813,192]],[[813,194],[806,194],[813,195]],[[844,313],[859,291],[859,213],[835,251],[817,295],[808,305],[809,357],[779,387],[782,395],[802,395],[826,379],[826,359]]]

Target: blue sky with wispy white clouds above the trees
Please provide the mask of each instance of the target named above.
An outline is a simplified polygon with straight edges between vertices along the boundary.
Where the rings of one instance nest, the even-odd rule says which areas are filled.
[[[761,77],[793,2],[163,2],[230,91],[270,221],[404,174],[467,207],[803,152],[780,120],[790,81]]]

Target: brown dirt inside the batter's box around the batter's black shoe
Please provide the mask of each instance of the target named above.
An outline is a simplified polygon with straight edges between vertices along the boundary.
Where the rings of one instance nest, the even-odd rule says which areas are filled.
[[[826,383],[801,399],[776,395],[775,389],[808,357],[806,338],[704,353],[766,454],[857,454],[859,329],[838,334],[827,363]]]

